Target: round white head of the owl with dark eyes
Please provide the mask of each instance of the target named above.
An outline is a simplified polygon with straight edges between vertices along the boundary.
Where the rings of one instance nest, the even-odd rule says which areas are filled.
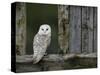
[[[39,28],[39,35],[51,35],[51,27],[48,24],[43,24]]]

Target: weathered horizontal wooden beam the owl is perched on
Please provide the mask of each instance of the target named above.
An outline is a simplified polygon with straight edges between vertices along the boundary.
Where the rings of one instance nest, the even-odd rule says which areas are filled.
[[[42,61],[65,61],[72,58],[97,58],[97,53],[89,53],[89,54],[66,54],[64,56],[58,55],[58,54],[49,54],[47,56],[44,56]],[[16,62],[17,63],[30,63],[33,62],[33,55],[22,55],[22,56],[16,56]]]

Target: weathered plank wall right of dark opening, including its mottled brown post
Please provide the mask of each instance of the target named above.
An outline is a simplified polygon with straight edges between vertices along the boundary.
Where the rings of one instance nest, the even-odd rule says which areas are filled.
[[[97,7],[58,5],[58,29],[63,53],[97,52]]]

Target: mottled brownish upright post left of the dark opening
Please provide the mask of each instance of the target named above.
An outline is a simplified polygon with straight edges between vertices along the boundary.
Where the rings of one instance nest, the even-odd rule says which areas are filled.
[[[26,47],[26,4],[16,3],[16,54],[24,55]]]

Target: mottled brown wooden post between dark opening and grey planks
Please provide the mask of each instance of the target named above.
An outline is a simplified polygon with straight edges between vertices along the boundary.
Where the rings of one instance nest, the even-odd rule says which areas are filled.
[[[64,54],[69,47],[69,6],[58,6],[58,41]]]

